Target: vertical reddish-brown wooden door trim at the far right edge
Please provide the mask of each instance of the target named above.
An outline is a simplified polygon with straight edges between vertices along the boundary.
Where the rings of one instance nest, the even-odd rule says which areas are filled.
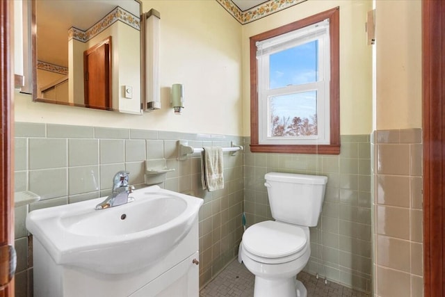
[[[422,2],[424,296],[445,296],[445,2]]]

